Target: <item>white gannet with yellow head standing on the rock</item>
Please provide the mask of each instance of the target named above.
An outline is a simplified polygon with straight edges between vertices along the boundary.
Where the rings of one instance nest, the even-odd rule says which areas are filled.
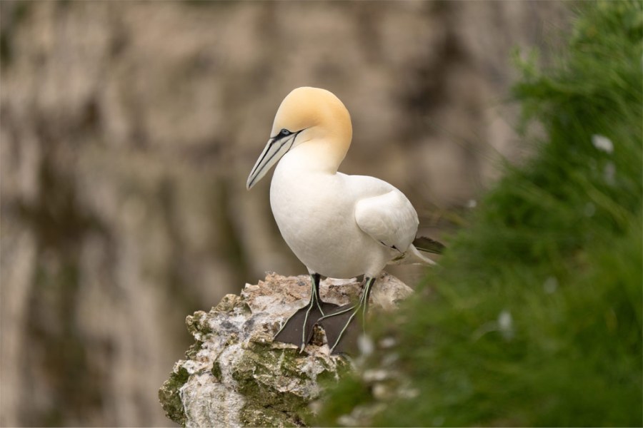
[[[402,192],[379,178],[337,171],[351,140],[351,118],[337,96],[321,88],[296,88],[281,102],[246,183],[252,188],[277,164],[270,186],[272,213],[284,240],[308,269],[311,297],[274,339],[299,345],[300,351],[316,323],[326,332],[330,352],[354,348],[357,330],[350,326],[355,317],[363,321],[384,266],[434,264],[413,245],[419,222]],[[341,307],[323,302],[320,275],[364,275],[359,301]]]

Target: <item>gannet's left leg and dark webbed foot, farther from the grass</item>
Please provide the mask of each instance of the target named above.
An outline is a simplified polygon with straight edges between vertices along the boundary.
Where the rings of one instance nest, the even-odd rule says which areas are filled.
[[[328,313],[337,307],[337,305],[321,300],[319,296],[320,280],[321,277],[318,273],[310,274],[310,301],[306,306],[294,312],[294,314],[284,322],[279,332],[274,335],[273,340],[292,343],[300,347],[299,352],[304,351],[306,343],[308,343],[312,337],[316,320],[323,316],[324,312]]]

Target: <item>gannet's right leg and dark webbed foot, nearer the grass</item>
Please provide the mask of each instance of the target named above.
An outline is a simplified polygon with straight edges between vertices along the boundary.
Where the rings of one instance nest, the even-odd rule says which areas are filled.
[[[364,326],[369,308],[369,296],[374,282],[375,278],[365,278],[364,291],[357,303],[340,306],[317,320],[317,324],[321,325],[326,332],[328,346],[332,354],[357,350],[359,323],[353,321],[362,312],[362,325]]]

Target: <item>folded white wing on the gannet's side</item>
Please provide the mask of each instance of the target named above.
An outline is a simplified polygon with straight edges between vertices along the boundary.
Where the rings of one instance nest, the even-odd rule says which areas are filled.
[[[402,253],[413,242],[419,223],[413,205],[393,186],[381,195],[360,199],[355,220],[374,240]]]

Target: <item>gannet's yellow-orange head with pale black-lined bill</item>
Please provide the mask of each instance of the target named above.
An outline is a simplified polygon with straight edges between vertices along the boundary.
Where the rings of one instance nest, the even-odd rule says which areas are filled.
[[[337,171],[352,138],[351,116],[330,91],[304,86],[289,93],[277,110],[270,138],[248,177],[255,185],[289,151],[309,151],[311,162]]]

